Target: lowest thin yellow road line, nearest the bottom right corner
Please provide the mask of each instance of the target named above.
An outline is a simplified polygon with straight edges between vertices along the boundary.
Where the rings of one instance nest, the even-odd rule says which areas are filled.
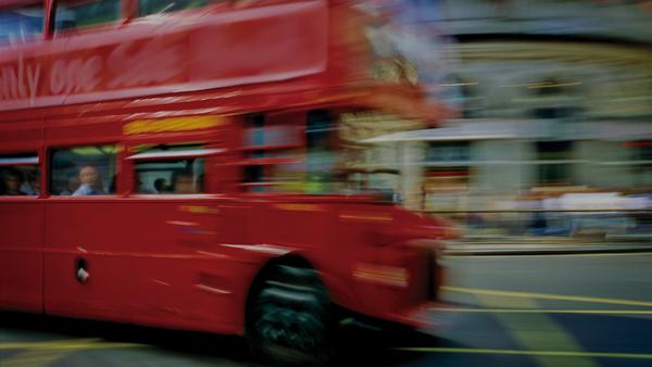
[[[469,354],[504,354],[550,357],[584,357],[584,358],[626,358],[652,359],[652,354],[639,353],[599,353],[599,352],[567,352],[567,351],[516,351],[516,350],[481,350],[473,347],[397,347],[398,351],[424,353],[469,353]]]

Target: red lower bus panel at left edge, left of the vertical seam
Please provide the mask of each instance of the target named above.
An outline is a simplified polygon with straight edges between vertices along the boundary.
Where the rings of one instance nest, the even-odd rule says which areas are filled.
[[[42,312],[42,204],[0,200],[0,308]]]

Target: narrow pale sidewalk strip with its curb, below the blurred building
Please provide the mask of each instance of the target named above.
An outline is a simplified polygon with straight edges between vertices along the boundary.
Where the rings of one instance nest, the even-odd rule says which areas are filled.
[[[652,242],[584,242],[565,239],[555,241],[455,241],[447,242],[444,253],[450,256],[480,255],[569,255],[602,253],[652,253]]]

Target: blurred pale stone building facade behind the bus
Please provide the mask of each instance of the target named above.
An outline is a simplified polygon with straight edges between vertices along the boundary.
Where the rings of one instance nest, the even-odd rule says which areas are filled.
[[[511,210],[564,194],[652,193],[652,2],[402,3],[403,22],[430,24],[446,58],[419,77],[457,111],[375,148],[379,157],[393,145],[404,165],[423,167],[404,184],[410,206]]]

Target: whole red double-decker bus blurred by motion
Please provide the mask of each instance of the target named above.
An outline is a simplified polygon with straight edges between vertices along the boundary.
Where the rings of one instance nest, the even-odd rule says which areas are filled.
[[[0,308],[293,363],[344,314],[421,325],[451,231],[353,179],[360,140],[439,113],[383,27],[346,1],[0,2]]]

